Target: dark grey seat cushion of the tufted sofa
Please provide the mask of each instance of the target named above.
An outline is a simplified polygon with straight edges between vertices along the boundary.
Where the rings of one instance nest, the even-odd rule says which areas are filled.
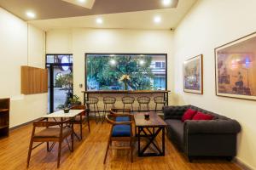
[[[171,135],[171,139],[174,143],[180,144],[183,147],[183,125],[184,123],[180,120],[168,119],[167,123],[167,132]]]

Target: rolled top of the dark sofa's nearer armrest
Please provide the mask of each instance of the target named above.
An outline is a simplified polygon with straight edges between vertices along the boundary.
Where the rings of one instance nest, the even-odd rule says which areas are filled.
[[[185,121],[184,134],[192,133],[239,133],[241,126],[235,120]]]

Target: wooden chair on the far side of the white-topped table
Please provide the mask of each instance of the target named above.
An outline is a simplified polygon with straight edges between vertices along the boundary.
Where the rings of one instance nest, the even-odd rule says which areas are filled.
[[[89,111],[90,110],[86,109],[86,107],[84,105],[74,105],[71,109],[72,110],[84,110],[78,116],[75,116],[73,119],[71,119],[71,123],[79,124],[80,137],[76,133],[74,133],[74,134],[79,140],[82,140],[83,139],[83,123],[87,122],[88,131],[90,133],[90,121],[89,121]]]

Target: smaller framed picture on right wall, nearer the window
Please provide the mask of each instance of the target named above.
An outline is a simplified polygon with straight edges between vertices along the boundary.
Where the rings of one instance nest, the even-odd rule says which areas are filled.
[[[193,94],[203,94],[203,55],[183,62],[183,90]]]

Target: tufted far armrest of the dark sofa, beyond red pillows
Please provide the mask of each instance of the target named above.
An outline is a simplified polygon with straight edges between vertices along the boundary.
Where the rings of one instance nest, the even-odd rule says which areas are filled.
[[[166,119],[179,119],[181,120],[183,114],[187,109],[189,108],[189,105],[181,105],[181,106],[164,106],[163,112],[164,112],[164,118]]]

